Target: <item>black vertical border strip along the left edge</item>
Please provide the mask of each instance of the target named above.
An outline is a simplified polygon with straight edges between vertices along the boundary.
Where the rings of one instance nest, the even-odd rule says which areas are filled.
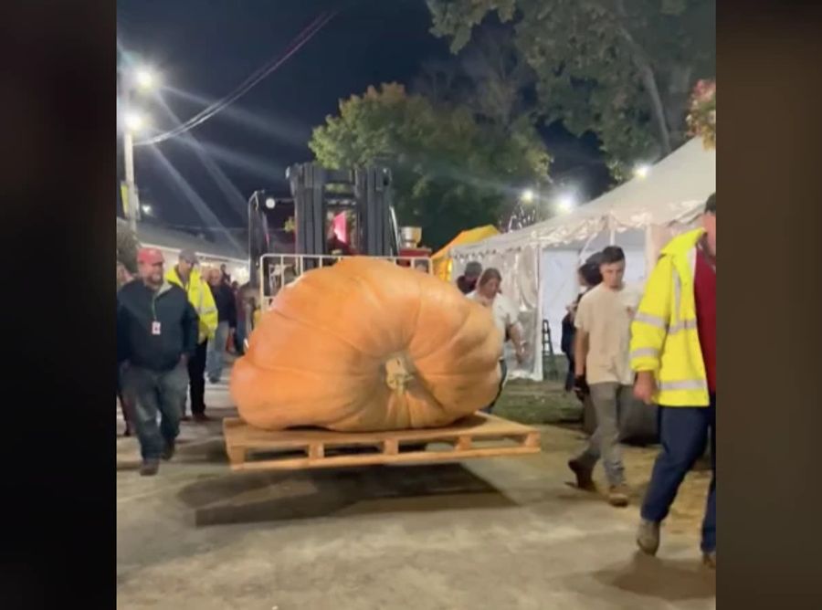
[[[0,607],[115,601],[116,5],[0,8]]]

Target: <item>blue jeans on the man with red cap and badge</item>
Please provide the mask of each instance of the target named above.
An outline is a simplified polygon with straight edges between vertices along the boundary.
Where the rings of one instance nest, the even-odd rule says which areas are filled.
[[[129,366],[122,375],[122,384],[132,409],[142,459],[159,459],[163,446],[180,434],[180,407],[188,390],[188,371],[182,363],[165,373]]]

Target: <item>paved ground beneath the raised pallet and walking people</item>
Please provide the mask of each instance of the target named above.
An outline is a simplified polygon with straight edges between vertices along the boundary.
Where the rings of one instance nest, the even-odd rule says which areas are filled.
[[[231,413],[225,386],[207,403]],[[707,475],[690,476],[659,558],[639,557],[636,507],[570,487],[581,437],[543,429],[539,456],[269,475],[230,473],[219,423],[186,424],[153,479],[118,438],[118,607],[715,608],[696,537]],[[651,457],[627,450],[637,498]]]

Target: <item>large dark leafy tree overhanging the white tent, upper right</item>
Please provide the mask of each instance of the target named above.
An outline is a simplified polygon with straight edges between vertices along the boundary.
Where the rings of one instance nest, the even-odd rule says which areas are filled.
[[[594,131],[613,173],[686,138],[693,84],[715,73],[715,0],[427,0],[455,53],[490,13],[514,22],[540,113]]]

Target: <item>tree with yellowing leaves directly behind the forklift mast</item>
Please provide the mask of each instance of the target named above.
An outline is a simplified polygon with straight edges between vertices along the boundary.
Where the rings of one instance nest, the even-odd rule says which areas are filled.
[[[390,167],[401,224],[421,226],[431,247],[470,226],[497,224],[522,184],[547,177],[550,162],[532,131],[482,125],[465,107],[408,95],[396,83],[341,101],[309,146],[329,167]]]

